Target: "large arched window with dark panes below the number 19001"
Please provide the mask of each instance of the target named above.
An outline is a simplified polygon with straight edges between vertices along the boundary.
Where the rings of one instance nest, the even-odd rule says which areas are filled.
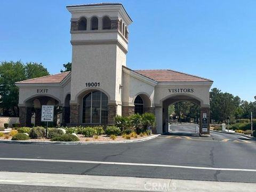
[[[100,91],[92,91],[83,98],[83,123],[108,123],[108,97]]]

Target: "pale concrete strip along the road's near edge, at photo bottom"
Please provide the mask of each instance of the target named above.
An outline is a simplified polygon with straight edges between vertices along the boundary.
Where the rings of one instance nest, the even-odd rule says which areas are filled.
[[[133,191],[255,191],[256,183],[0,172],[0,184]],[[11,187],[10,187],[11,188]],[[39,187],[38,187],[39,188]],[[98,191],[98,190],[97,190]],[[103,190],[102,190],[103,191]]]

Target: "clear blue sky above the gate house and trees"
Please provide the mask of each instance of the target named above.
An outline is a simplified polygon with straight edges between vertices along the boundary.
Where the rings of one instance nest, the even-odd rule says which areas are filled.
[[[0,61],[42,62],[51,74],[71,61],[66,5],[105,1],[0,1]],[[110,2],[110,1],[107,1]],[[256,95],[256,1],[123,3],[129,27],[127,67],[173,69],[253,101]]]

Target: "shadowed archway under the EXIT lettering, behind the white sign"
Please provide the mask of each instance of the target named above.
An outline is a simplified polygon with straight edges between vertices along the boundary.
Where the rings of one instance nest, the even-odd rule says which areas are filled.
[[[41,122],[42,105],[54,106],[54,118],[53,122],[49,123],[49,126],[56,126],[57,124],[60,124],[62,107],[59,104],[58,100],[48,96],[28,99],[25,102],[26,107],[20,107],[21,126],[44,126],[45,122]]]

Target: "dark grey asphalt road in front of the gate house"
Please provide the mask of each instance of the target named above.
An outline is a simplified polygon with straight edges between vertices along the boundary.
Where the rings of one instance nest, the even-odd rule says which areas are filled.
[[[189,127],[183,127],[189,129]],[[192,129],[192,128],[191,128]],[[107,145],[23,145],[0,143],[0,158],[68,159],[138,163],[116,165],[74,162],[0,160],[0,171],[113,175],[129,177],[234,181],[256,183],[252,171],[194,169],[217,167],[256,169],[256,141],[239,135],[211,132],[211,137],[160,135],[135,143]],[[142,165],[140,165],[142,164]],[[192,166],[159,167],[143,164]]]

